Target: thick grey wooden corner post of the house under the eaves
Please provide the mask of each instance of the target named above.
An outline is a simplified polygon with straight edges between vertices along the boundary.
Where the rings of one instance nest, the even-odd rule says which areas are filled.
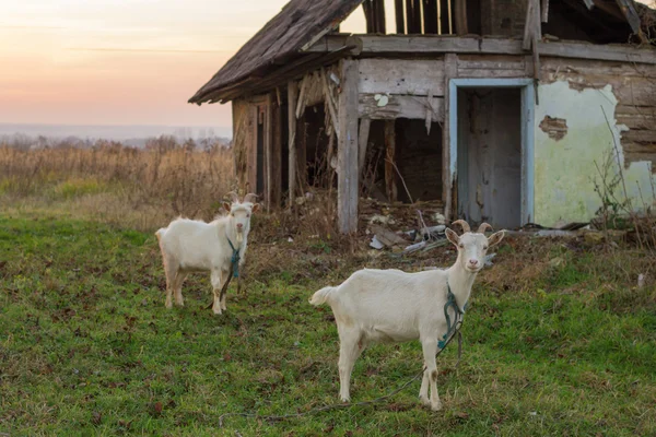
[[[338,194],[339,231],[358,231],[358,61],[343,59],[339,95]]]

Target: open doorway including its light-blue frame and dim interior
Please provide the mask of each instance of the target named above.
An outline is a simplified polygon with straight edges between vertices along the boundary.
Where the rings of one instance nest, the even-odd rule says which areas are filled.
[[[455,215],[494,228],[532,216],[534,88],[525,79],[452,80],[450,168]]]

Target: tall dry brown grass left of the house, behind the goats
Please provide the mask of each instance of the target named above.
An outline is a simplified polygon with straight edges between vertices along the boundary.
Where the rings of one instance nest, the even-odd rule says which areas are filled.
[[[210,220],[235,189],[232,153],[181,147],[22,151],[0,144],[0,196],[17,209],[44,205],[151,231],[177,215]]]

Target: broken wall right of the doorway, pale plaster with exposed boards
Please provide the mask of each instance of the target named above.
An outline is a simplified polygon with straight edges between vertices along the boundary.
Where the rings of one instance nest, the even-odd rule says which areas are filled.
[[[558,226],[594,217],[601,206],[595,182],[601,181],[608,162],[611,175],[607,180],[621,168],[633,204],[643,204],[641,190],[651,204],[656,143],[646,145],[646,154],[632,153],[635,134],[630,134],[621,120],[626,120],[623,115],[630,95],[632,103],[651,107],[656,104],[654,96],[639,97],[629,92],[639,80],[612,76],[604,83],[600,78],[581,74],[573,68],[561,66],[562,69],[550,71],[554,62],[547,63],[543,79],[551,83],[538,86],[539,105],[535,108],[534,222]],[[616,194],[620,201],[624,199],[621,186]]]

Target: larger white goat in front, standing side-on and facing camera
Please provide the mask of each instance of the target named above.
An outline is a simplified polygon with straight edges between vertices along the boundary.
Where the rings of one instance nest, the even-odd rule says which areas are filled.
[[[487,223],[481,224],[477,233],[471,233],[465,221],[456,223],[462,226],[465,233],[458,237],[454,231],[446,229],[446,237],[458,249],[458,258],[449,269],[418,273],[364,269],[337,287],[319,290],[309,299],[315,306],[328,303],[335,314],[340,341],[340,398],[343,402],[351,399],[353,364],[370,343],[419,339],[425,366],[419,397],[433,411],[442,409],[435,355],[437,343],[447,340],[446,334],[455,332],[447,332],[449,327],[445,311],[448,309],[450,320],[456,319],[456,308],[460,315],[465,312],[473,280],[483,268],[485,251],[504,237],[504,231],[501,231],[487,238],[483,232],[491,227]],[[455,306],[447,305],[449,290]]]

